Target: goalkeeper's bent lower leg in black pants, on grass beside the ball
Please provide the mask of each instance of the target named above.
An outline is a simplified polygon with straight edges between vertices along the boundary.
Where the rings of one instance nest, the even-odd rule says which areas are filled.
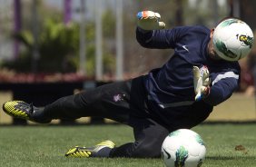
[[[123,144],[110,152],[110,157],[158,158],[162,142],[169,131],[151,119],[133,119],[135,142]]]

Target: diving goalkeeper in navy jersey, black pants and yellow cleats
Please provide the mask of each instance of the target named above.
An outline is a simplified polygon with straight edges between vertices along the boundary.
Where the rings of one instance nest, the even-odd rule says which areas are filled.
[[[133,127],[134,142],[115,146],[108,140],[91,147],[76,146],[65,153],[67,157],[160,157],[162,142],[170,132],[202,123],[213,106],[231,96],[239,86],[240,66],[216,54],[214,29],[198,25],[164,30],[160,15],[152,11],[139,12],[137,18],[139,44],[174,49],[161,68],[60,98],[43,109],[23,101],[6,102],[5,113],[36,123],[103,117]]]

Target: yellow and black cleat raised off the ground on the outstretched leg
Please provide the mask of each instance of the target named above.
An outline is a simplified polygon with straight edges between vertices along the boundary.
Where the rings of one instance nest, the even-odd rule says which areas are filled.
[[[5,113],[25,120],[29,120],[36,123],[49,123],[49,120],[35,120],[34,115],[39,113],[40,109],[34,107],[33,104],[25,103],[23,101],[9,101],[3,104],[3,110]]]

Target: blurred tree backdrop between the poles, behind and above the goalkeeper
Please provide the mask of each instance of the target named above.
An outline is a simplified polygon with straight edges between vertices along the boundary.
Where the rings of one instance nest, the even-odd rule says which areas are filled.
[[[116,1],[102,2],[103,25],[103,79],[114,79],[116,68]],[[15,73],[54,74],[77,73],[79,71],[80,12],[81,1],[70,0],[71,21],[64,23],[64,0],[37,0],[36,27],[38,57],[34,62],[34,14],[33,0],[22,0],[21,29],[14,31],[14,2],[0,0],[0,67]],[[86,77],[95,75],[95,12],[94,0],[85,2],[85,55]],[[149,50],[135,39],[136,14],[152,10],[162,15],[166,28],[177,25],[205,25],[212,28],[222,17],[236,14],[233,5],[240,0],[141,0],[124,1],[123,15],[123,78],[145,74],[160,67],[172,50]],[[248,1],[246,1],[248,2]],[[243,9],[243,11],[246,9]],[[250,25],[250,23],[249,23]],[[14,44],[19,45],[15,55]],[[36,70],[33,65],[36,63]],[[1,71],[0,71],[1,72]]]

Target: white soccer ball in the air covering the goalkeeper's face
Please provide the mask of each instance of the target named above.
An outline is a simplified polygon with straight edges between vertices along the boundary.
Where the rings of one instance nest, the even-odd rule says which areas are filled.
[[[253,33],[249,25],[235,18],[223,20],[212,36],[215,52],[227,61],[238,61],[250,53]]]

